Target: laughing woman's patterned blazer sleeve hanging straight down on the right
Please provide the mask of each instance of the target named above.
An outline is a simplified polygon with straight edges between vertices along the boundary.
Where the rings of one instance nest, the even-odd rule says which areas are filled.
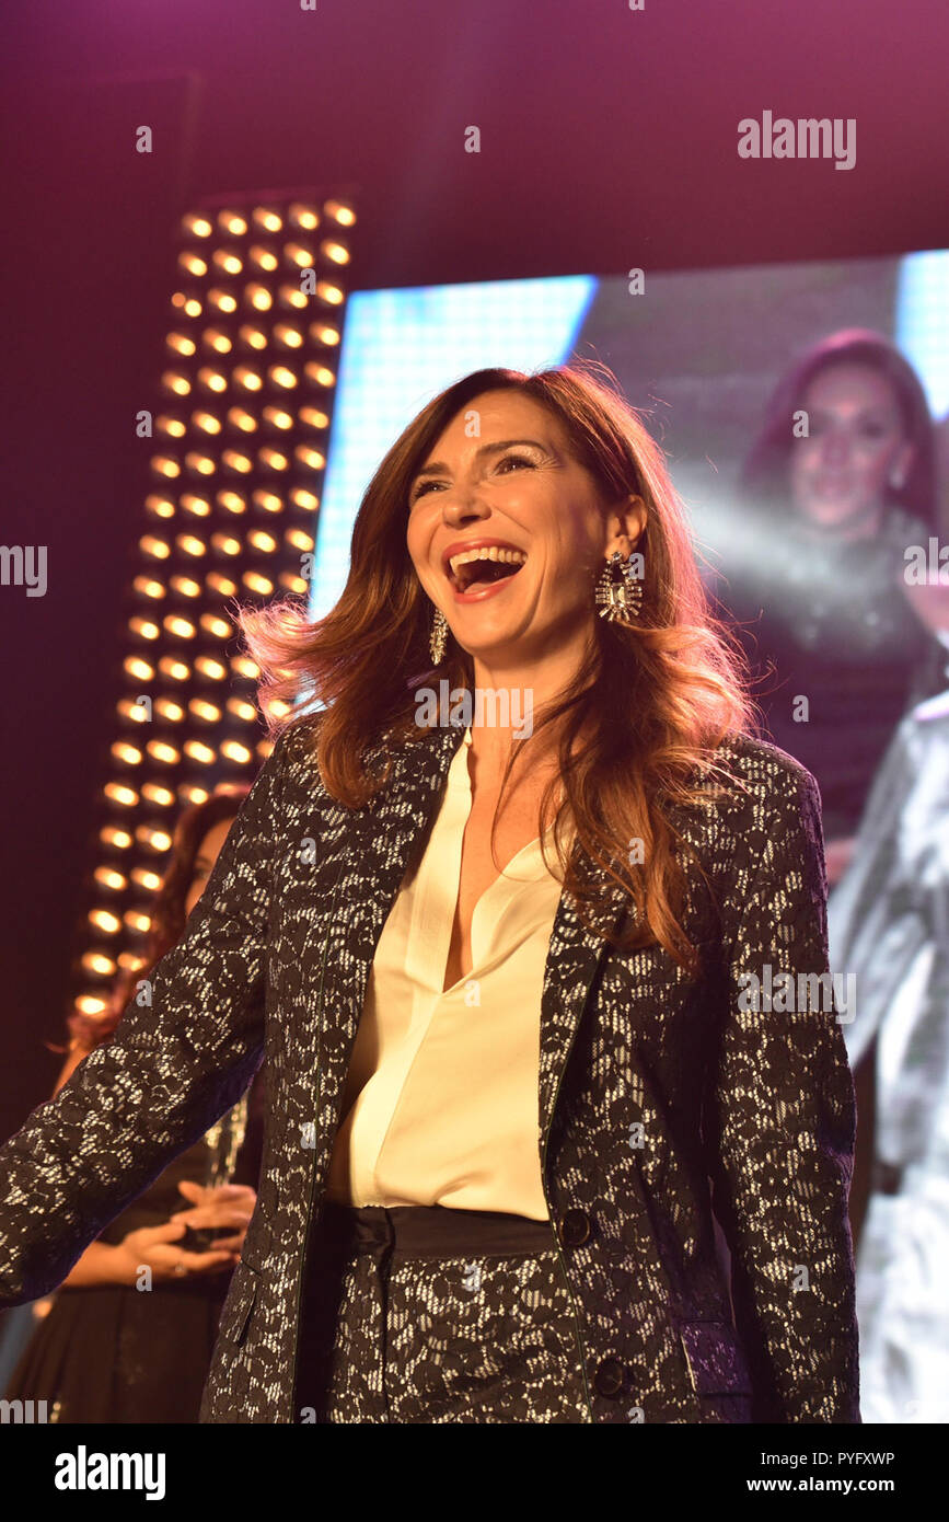
[[[856,1106],[827,966],[820,793],[809,772],[783,758],[744,842],[706,1138],[753,1420],[858,1423],[847,1213]]]

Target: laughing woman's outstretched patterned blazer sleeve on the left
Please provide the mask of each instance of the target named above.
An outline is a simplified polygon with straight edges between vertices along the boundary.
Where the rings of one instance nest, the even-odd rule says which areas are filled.
[[[286,741],[284,731],[181,941],[126,1006],[111,1041],[0,1148],[0,1304],[62,1283],[103,1227],[257,1071]]]

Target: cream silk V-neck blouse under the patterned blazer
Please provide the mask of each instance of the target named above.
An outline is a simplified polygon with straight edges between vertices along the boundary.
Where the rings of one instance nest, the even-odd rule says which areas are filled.
[[[549,1218],[540,1175],[540,995],[561,883],[548,829],[490,884],[471,973],[443,992],[471,810],[465,731],[418,866],[385,922],[342,1097],[327,1199]]]

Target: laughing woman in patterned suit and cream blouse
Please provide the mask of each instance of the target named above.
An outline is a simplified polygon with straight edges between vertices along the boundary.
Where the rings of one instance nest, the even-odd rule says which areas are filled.
[[[0,1149],[2,1301],[266,1049],[205,1422],[859,1422],[820,798],[745,734],[639,417],[587,368],[467,376],[376,472],[333,612],[245,632],[321,711],[151,1009]]]

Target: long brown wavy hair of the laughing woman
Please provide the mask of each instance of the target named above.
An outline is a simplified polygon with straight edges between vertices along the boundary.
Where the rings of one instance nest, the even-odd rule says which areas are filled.
[[[365,753],[385,735],[389,744],[418,735],[412,694],[432,676],[432,604],[406,548],[409,482],[461,409],[485,391],[505,388],[538,402],[561,423],[604,502],[637,493],[648,510],[636,545],[645,556],[645,581],[634,627],[592,618],[582,670],[535,715],[534,734],[558,724],[560,772],[544,791],[538,834],[554,817],[564,887],[589,925],[593,889],[582,860],[572,860],[561,840],[569,808],[581,852],[622,884],[637,910],[637,924],[610,939],[625,948],[659,941],[695,971],[695,947],[680,922],[686,877],[675,848],[681,836],[668,805],[707,804],[709,788],[700,784],[707,784],[710,772],[718,773],[718,788],[728,781],[715,750],[750,728],[754,705],[736,641],[710,612],[663,455],[604,365],[575,361],[532,374],[476,370],[429,402],[367,487],[348,580],[333,610],[310,622],[290,598],[239,613],[263,674],[260,702],[271,715],[275,703],[294,705],[301,697],[325,708],[315,728],[315,756],[341,804],[363,807],[385,785],[388,769],[376,772]],[[473,689],[473,661],[450,635],[436,670],[450,688]],[[286,717],[271,718],[271,729],[286,723]],[[528,743],[513,746],[505,785]],[[633,842],[637,846],[630,852]]]

